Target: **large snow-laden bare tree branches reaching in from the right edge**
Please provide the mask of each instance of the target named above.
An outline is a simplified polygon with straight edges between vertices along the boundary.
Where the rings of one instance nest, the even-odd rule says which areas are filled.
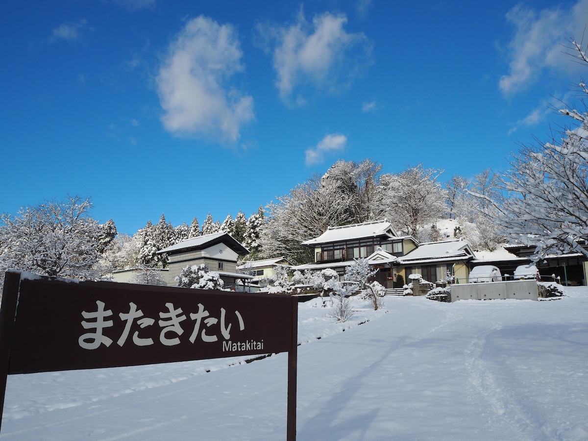
[[[586,48],[569,40],[574,61],[588,66]],[[535,255],[577,252],[588,238],[588,88],[580,81],[583,97],[579,106],[565,106],[560,113],[572,118],[573,126],[556,131],[549,142],[524,146],[502,179],[504,201],[484,195],[495,213],[500,232],[510,240],[535,247]]]

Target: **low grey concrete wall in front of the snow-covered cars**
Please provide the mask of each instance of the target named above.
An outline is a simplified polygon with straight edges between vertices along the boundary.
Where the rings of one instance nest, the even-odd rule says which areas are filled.
[[[537,300],[535,280],[510,280],[509,282],[465,283],[451,286],[451,301],[490,299]]]

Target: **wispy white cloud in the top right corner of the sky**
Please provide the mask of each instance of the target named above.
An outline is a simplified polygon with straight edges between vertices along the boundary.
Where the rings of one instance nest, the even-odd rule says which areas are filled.
[[[544,69],[569,70],[573,63],[562,44],[574,35],[580,38],[587,16],[588,0],[569,9],[510,9],[506,19],[515,26],[515,35],[509,42],[509,73],[500,78],[500,90],[512,95],[539,81]]]

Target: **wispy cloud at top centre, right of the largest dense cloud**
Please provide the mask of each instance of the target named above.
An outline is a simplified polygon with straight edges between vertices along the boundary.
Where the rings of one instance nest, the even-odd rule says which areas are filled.
[[[343,14],[315,15],[309,23],[302,8],[290,25],[258,25],[259,40],[273,56],[276,86],[287,103],[305,102],[304,86],[339,93],[371,63],[372,44],[349,34]]]

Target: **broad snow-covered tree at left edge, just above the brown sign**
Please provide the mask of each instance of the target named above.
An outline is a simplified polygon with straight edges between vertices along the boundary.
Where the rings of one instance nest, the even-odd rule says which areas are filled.
[[[15,269],[70,279],[98,279],[98,223],[90,199],[67,196],[1,215],[0,270]]]

